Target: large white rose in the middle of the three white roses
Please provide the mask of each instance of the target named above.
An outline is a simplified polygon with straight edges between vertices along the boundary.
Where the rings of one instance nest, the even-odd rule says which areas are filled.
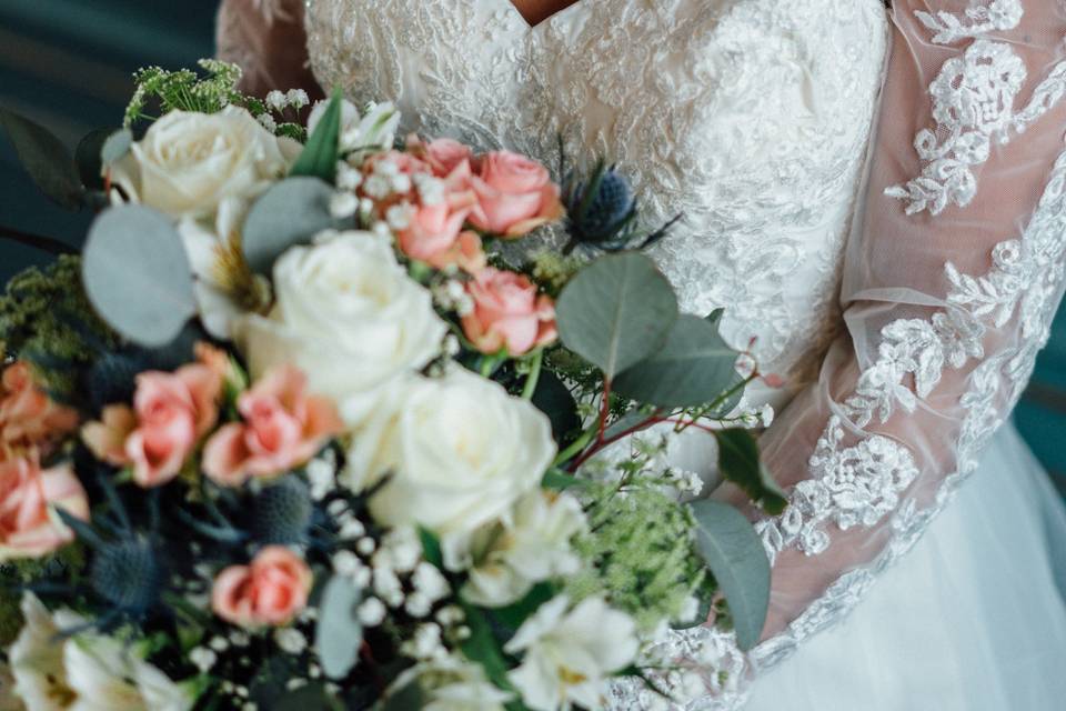
[[[447,326],[429,290],[408,277],[386,237],[325,232],[274,264],[274,308],[235,336],[252,377],[291,363],[358,425],[398,377],[441,349]]]

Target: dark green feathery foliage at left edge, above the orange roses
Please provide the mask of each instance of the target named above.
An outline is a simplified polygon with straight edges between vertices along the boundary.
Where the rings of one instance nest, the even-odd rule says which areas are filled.
[[[0,297],[0,343],[8,354],[32,362],[50,391],[73,392],[74,368],[90,363],[98,347],[117,344],[89,303],[79,257],[60,257],[8,282]]]

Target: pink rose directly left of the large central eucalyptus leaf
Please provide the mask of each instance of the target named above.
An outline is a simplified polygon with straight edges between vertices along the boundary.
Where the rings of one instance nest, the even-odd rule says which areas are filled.
[[[474,310],[463,317],[466,338],[483,353],[513,357],[555,340],[555,306],[525,277],[486,268],[466,284]]]

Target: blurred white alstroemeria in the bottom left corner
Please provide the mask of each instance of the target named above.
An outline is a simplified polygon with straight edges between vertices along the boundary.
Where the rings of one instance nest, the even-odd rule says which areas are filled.
[[[27,711],[188,711],[195,698],[121,641],[91,632],[57,634],[84,623],[68,610],[50,614],[30,593],[26,625],[9,650],[14,691]]]

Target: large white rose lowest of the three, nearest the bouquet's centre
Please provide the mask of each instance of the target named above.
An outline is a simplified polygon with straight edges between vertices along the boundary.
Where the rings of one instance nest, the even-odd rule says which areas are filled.
[[[385,525],[421,524],[452,543],[535,490],[555,457],[547,417],[461,368],[412,378],[359,430],[341,482]]]

